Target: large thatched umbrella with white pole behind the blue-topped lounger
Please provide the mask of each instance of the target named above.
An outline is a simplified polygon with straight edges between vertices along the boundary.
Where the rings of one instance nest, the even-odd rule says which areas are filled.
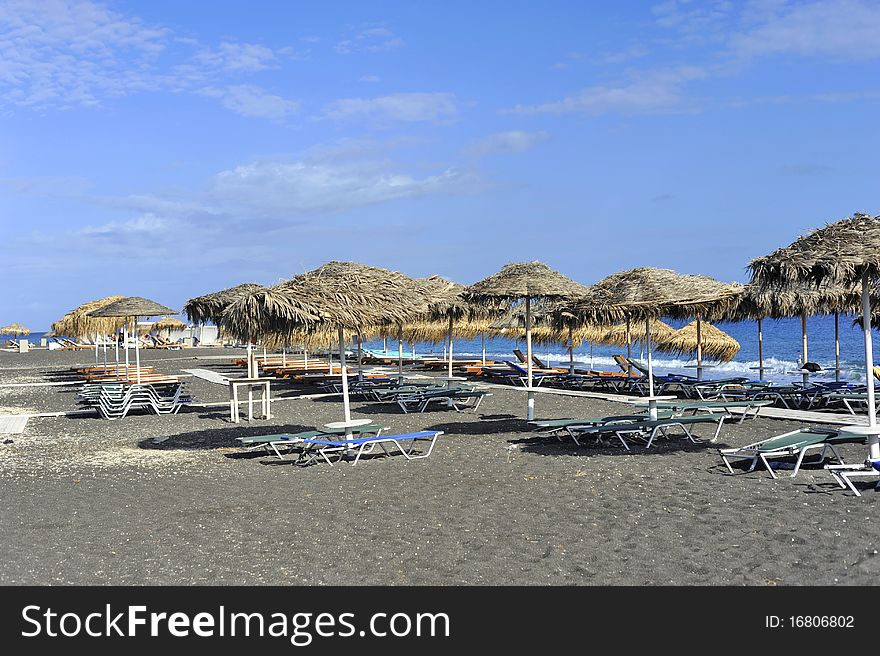
[[[429,302],[425,288],[402,273],[354,262],[330,262],[240,298],[225,310],[223,324],[240,337],[285,337],[302,329],[335,327],[344,423],[350,427],[345,330],[402,325],[425,316]]]

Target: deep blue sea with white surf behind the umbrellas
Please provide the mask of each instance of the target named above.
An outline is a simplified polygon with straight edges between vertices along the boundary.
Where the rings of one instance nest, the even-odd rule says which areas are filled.
[[[850,382],[864,382],[864,337],[859,326],[853,326],[853,316],[840,316],[840,379]],[[687,321],[664,319],[673,328],[681,328]],[[704,378],[728,378],[732,376],[745,376],[751,379],[758,378],[758,326],[754,321],[742,322],[718,322],[714,324],[723,330],[740,344],[740,351],[729,362],[715,362],[704,359],[704,364],[711,365],[703,371]],[[800,318],[792,319],[765,319],[762,322],[764,333],[764,379],[773,382],[789,382],[802,380],[798,371],[801,366],[801,321]],[[31,333],[27,339],[31,344],[39,345],[40,338],[44,333]],[[11,335],[0,335],[0,344],[5,344]],[[874,362],[880,363],[880,335],[873,332]],[[381,350],[382,339],[366,340],[365,348]],[[834,380],[834,317],[815,316],[807,318],[807,346],[808,360],[817,363],[822,371],[813,374],[811,379]],[[486,338],[486,357],[494,360],[513,359],[513,349],[519,348],[525,351],[524,339],[512,339],[510,337]],[[444,354],[442,344],[404,343],[404,353],[410,353],[415,349],[416,354],[424,356],[442,356]],[[388,350],[397,350],[397,341],[388,340]],[[538,346],[532,349],[541,360],[552,365],[568,366],[568,351],[565,345]],[[578,367],[605,369],[619,371],[612,356],[617,353],[626,353],[625,348],[609,346],[605,344],[593,344],[592,349],[585,343],[574,350],[574,360]],[[632,347],[633,357],[641,361],[646,360],[644,345],[636,341]],[[479,337],[476,339],[456,338],[453,344],[454,357],[479,358],[482,356],[482,345]],[[693,365],[695,360],[688,356],[670,356],[664,353],[654,352],[652,355],[653,365],[657,373],[672,372],[695,375]]]

